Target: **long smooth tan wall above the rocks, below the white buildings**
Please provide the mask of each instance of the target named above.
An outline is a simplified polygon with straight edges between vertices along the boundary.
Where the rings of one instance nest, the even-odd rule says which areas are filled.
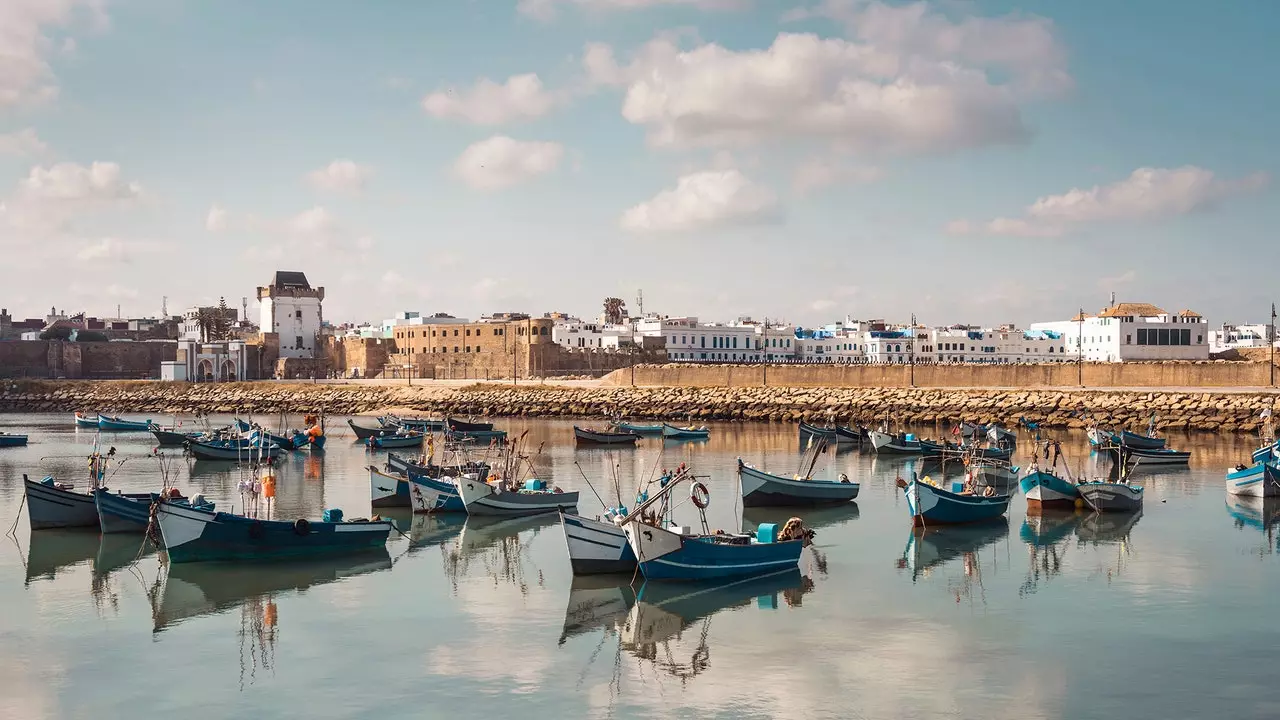
[[[1059,363],[1043,365],[695,365],[672,363],[636,368],[635,384],[662,387],[1267,387],[1271,373],[1258,363]],[[605,383],[628,386],[631,373]]]

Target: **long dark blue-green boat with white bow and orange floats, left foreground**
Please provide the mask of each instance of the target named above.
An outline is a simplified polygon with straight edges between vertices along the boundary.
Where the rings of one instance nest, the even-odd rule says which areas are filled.
[[[390,520],[260,520],[161,502],[156,519],[170,562],[278,560],[342,555],[387,547]]]

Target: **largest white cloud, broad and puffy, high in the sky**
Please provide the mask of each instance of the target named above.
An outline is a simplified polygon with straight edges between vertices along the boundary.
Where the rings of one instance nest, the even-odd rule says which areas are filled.
[[[946,152],[1028,137],[1018,94],[955,61],[781,33],[764,50],[649,42],[627,67],[588,46],[596,85],[625,85],[622,115],[655,146],[828,141],[846,150]]]

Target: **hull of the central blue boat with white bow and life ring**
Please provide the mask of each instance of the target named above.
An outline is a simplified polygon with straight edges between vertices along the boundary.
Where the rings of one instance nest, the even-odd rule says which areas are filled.
[[[650,580],[717,580],[800,568],[804,541],[724,544],[671,530],[627,523],[627,543]]]

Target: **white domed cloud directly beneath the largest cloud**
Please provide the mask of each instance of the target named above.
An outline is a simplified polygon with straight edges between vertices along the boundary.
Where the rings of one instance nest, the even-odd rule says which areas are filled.
[[[680,232],[777,220],[778,197],[739,170],[705,170],[681,177],[672,190],[622,214],[634,232]]]

